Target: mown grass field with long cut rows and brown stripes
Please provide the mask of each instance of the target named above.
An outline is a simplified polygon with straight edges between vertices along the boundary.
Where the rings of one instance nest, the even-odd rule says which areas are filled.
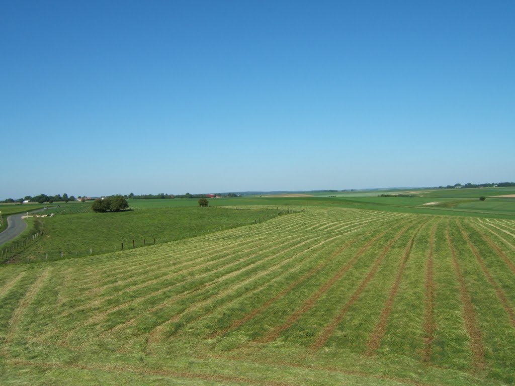
[[[3,384],[513,384],[515,221],[308,206],[4,265],[0,342]]]

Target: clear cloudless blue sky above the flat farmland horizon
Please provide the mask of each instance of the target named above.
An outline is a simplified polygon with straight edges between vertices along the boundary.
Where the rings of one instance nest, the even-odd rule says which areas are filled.
[[[515,2],[4,1],[0,199],[515,180]]]

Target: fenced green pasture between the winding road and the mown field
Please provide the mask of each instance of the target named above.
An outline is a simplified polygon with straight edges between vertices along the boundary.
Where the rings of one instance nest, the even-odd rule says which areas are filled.
[[[260,222],[277,216],[279,211],[174,207],[133,210],[121,213],[93,213],[90,204],[71,204],[45,211],[55,213],[41,219],[43,236],[14,255],[17,261],[52,260],[102,254],[179,240]],[[70,215],[71,213],[71,215]],[[61,215],[65,214],[65,215]]]

